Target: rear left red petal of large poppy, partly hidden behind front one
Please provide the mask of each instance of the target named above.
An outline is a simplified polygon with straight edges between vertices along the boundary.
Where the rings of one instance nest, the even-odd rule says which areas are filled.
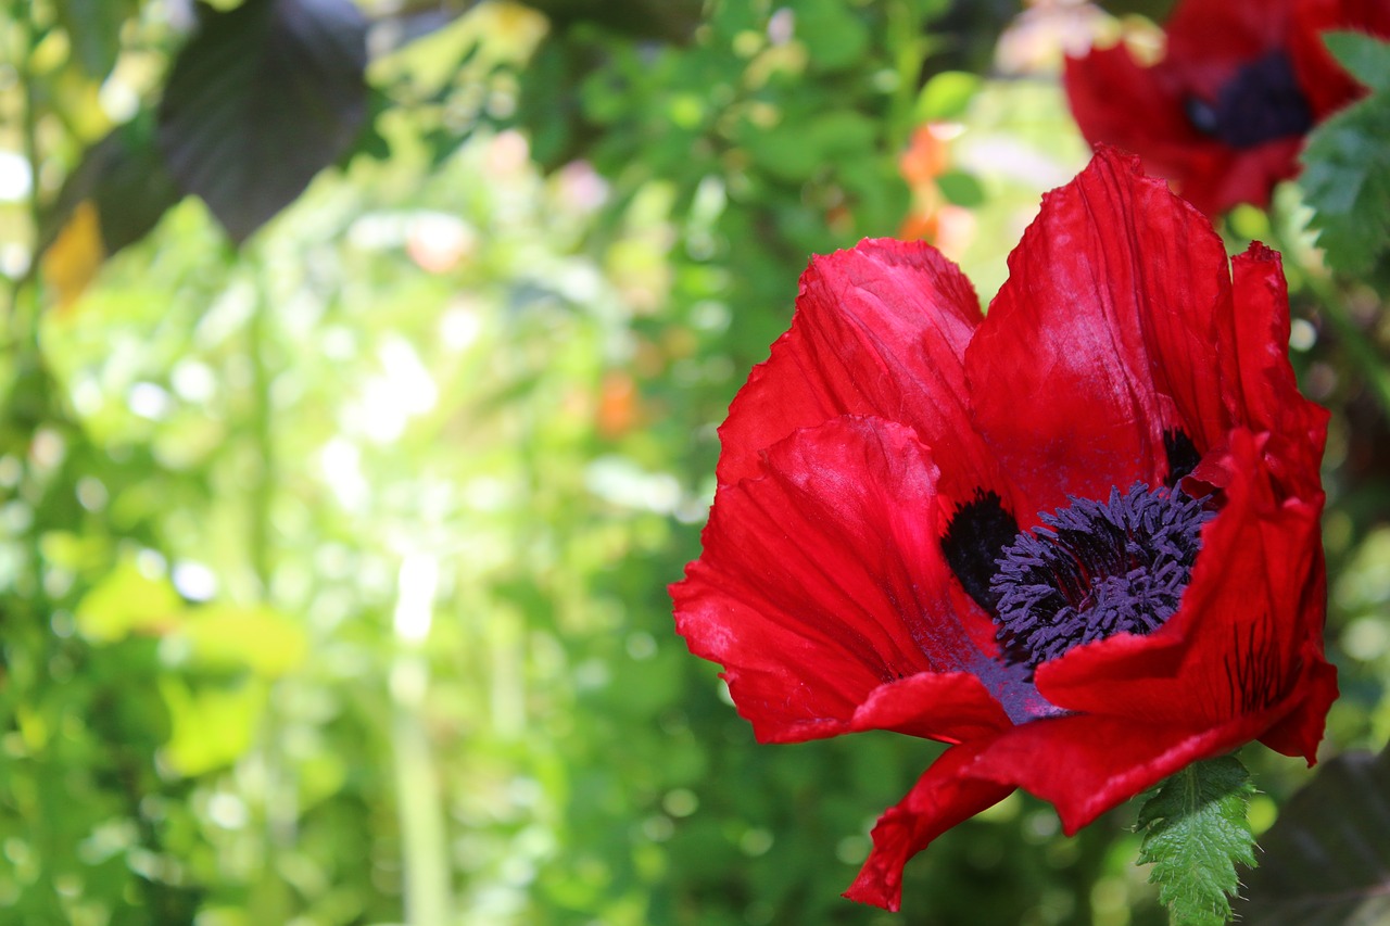
[[[970,427],[962,357],[980,302],[960,270],[930,245],[863,241],[813,257],[791,330],[777,339],[720,427],[720,484],[758,470],[758,450],[841,414],[873,414],[916,430],[952,471],[948,505],[995,469]]]

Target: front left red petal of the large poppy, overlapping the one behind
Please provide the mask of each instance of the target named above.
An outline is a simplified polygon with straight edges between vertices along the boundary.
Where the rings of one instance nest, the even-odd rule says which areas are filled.
[[[677,628],[724,666],[758,737],[885,726],[955,741],[1008,723],[987,687],[1004,670],[963,626],[986,619],[951,608],[937,467],[916,435],[837,419],[759,469],[719,491],[705,553],[671,587]]]

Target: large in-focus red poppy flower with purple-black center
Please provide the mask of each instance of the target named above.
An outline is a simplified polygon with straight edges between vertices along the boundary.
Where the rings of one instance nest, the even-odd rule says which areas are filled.
[[[720,428],[676,623],[760,741],[952,744],[848,897],[1015,787],[1066,833],[1259,740],[1315,759],[1337,695],[1318,476],[1279,254],[1101,149],[981,318],[923,243],[816,257]]]

